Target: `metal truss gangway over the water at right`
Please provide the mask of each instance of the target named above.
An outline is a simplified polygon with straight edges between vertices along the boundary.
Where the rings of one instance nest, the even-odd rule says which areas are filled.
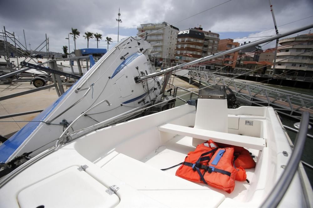
[[[272,106],[278,113],[295,119],[300,120],[302,113],[308,111],[310,124],[313,124],[313,96],[215,75],[210,72],[189,70],[188,76],[204,85],[226,85],[233,90],[237,97],[249,103]]]

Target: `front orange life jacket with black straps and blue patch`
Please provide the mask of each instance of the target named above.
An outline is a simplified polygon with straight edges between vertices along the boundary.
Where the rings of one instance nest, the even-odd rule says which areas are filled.
[[[182,166],[177,169],[176,176],[232,192],[238,172],[233,167],[234,150],[215,147],[217,145],[212,140],[199,144],[195,151],[188,153]]]

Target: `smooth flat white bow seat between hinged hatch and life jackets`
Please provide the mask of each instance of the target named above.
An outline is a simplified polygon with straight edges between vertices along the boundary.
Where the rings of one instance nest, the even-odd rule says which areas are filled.
[[[205,199],[209,199],[210,206],[218,207],[225,199],[223,194],[208,186],[171,175],[121,153],[102,168],[169,207],[202,207],[208,203]]]

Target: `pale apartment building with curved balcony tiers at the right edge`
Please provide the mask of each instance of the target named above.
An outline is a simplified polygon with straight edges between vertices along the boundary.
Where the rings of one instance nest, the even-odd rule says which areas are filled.
[[[274,74],[313,76],[313,34],[285,38],[279,44],[285,47],[277,53],[276,61],[281,62],[276,63]]]

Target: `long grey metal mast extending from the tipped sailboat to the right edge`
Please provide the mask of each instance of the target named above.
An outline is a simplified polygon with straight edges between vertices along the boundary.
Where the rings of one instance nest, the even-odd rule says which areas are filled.
[[[219,52],[219,53],[217,53],[215,55],[205,56],[205,57],[202,57],[200,59],[193,60],[193,61],[181,64],[181,65],[173,66],[173,67],[170,67],[168,69],[161,70],[159,72],[155,72],[155,73],[152,73],[152,74],[149,74],[149,75],[146,75],[146,76],[141,76],[141,77],[136,76],[136,77],[134,77],[134,79],[135,79],[136,83],[139,83],[139,82],[141,82],[143,80],[146,80],[146,79],[149,79],[149,78],[152,78],[152,77],[156,77],[156,76],[167,74],[169,72],[172,72],[172,71],[177,70],[179,68],[182,68],[184,66],[190,66],[190,65],[193,65],[193,64],[201,63],[203,61],[215,59],[215,58],[218,58],[218,57],[221,57],[221,56],[224,56],[224,55],[236,52],[236,51],[243,50],[243,49],[248,48],[250,46],[257,46],[259,44],[266,43],[266,42],[269,42],[269,41],[273,41],[275,39],[279,39],[279,38],[282,38],[282,37],[285,37],[285,36],[289,36],[289,35],[292,35],[294,33],[301,32],[301,31],[304,31],[304,30],[307,30],[307,29],[310,29],[310,28],[313,28],[313,24],[310,24],[310,25],[307,25],[307,26],[304,26],[304,27],[300,27],[298,29],[291,30],[289,32],[285,32],[283,34],[277,34],[275,36],[267,37],[267,38],[264,38],[264,39],[261,39],[261,40],[258,40],[258,41],[254,41],[254,42],[242,45],[242,46],[238,46],[236,48],[233,48],[233,49],[230,49],[230,50],[227,50],[227,51],[222,51],[222,52]]]

